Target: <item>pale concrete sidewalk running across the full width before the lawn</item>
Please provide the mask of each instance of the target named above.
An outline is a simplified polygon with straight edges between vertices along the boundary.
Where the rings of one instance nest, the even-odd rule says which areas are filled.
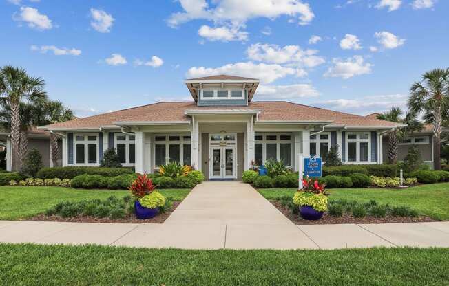
[[[449,247],[449,222],[225,225],[0,221],[0,242],[207,250]]]

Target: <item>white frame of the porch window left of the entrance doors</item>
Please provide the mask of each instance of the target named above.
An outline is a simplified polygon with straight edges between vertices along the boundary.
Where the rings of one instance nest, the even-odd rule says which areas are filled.
[[[179,140],[169,140],[170,136],[179,136]],[[184,137],[189,136],[190,139],[187,140]],[[164,141],[156,141],[156,137],[165,137]],[[190,145],[191,147],[191,134],[190,133],[155,133],[152,135],[152,166],[154,168],[159,168],[156,165],[156,145],[165,145],[165,164],[169,164],[170,162],[170,145],[179,145],[179,163],[184,164],[184,145]],[[190,151],[191,153],[191,151]],[[191,166],[191,154],[190,154],[190,164]]]

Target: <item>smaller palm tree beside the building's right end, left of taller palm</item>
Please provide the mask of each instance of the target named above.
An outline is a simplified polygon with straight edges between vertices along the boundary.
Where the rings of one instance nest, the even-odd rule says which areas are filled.
[[[392,107],[389,111],[377,115],[377,119],[405,124],[403,127],[393,129],[388,133],[388,163],[397,163],[398,144],[401,138],[415,131],[421,131],[423,124],[417,120],[417,113],[409,112],[405,118],[399,107]]]

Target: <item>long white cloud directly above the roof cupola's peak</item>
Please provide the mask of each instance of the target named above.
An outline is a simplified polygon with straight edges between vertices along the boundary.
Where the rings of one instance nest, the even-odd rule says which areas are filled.
[[[298,74],[300,73],[300,74]],[[218,74],[229,74],[232,76],[247,76],[258,78],[262,83],[271,83],[278,78],[289,75],[301,75],[297,69],[282,67],[282,65],[269,65],[266,63],[240,62],[229,63],[222,67],[191,67],[187,71],[187,78],[198,78],[202,76],[216,76]]]

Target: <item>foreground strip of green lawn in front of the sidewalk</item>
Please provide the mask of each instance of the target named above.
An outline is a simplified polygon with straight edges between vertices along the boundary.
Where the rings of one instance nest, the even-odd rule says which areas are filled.
[[[447,285],[449,248],[176,250],[0,244],[2,285]]]

